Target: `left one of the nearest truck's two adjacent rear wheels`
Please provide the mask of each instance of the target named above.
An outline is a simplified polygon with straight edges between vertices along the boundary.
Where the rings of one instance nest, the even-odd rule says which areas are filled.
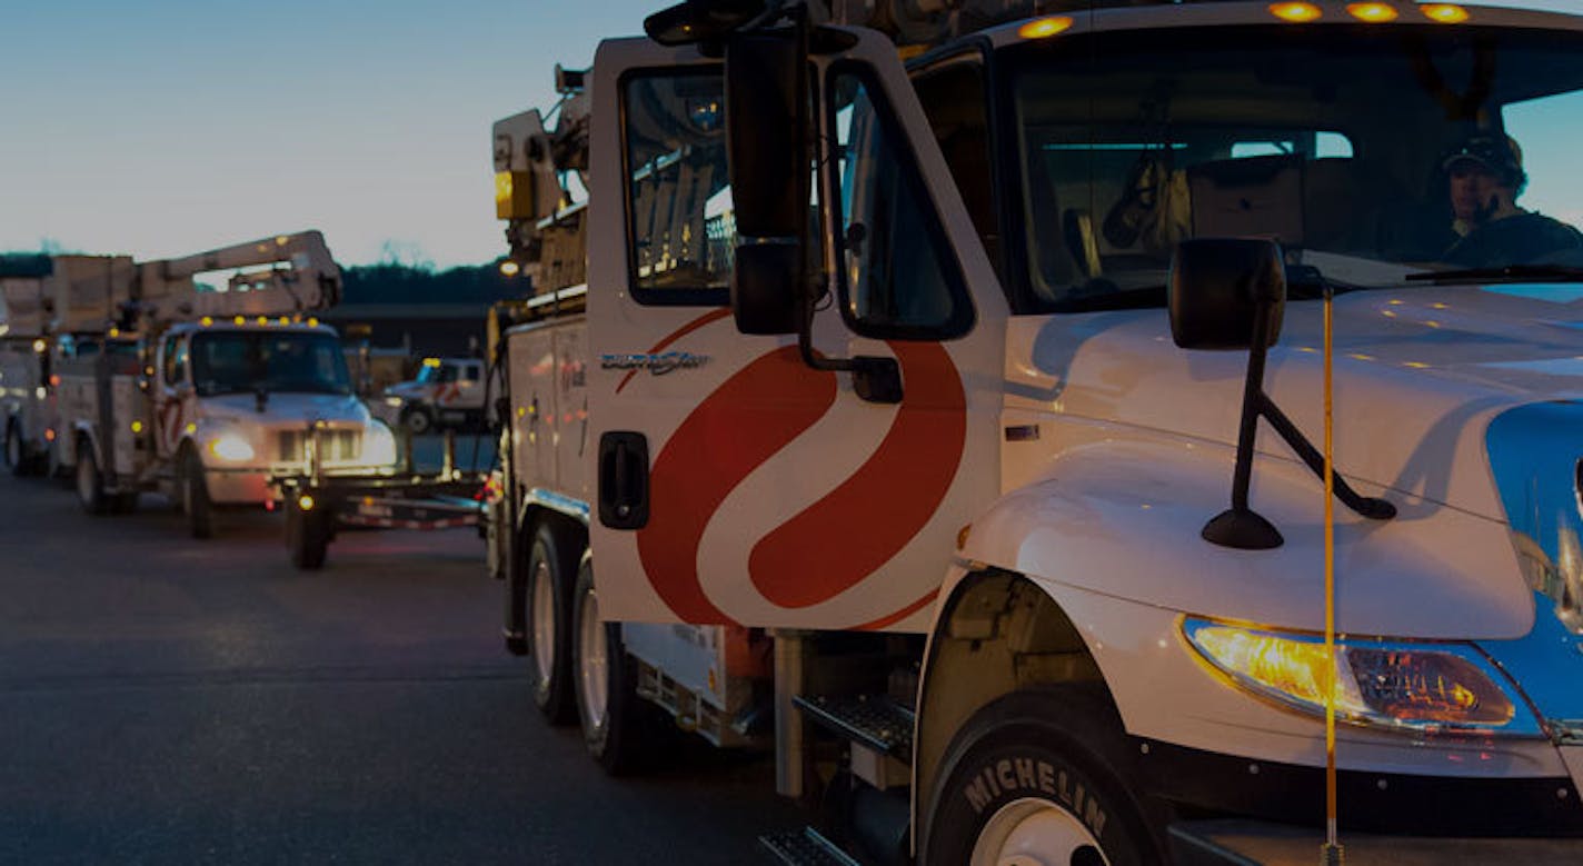
[[[533,703],[551,725],[576,719],[571,693],[571,579],[575,553],[562,549],[549,524],[533,534],[527,557],[527,648]]]

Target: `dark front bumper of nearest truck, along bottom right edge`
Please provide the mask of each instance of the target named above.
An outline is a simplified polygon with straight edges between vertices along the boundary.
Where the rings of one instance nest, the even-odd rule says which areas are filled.
[[[1312,866],[1325,833],[1255,820],[1192,820],[1168,828],[1176,866]],[[1341,834],[1349,866],[1429,866],[1442,863],[1583,863],[1583,839],[1450,839]]]

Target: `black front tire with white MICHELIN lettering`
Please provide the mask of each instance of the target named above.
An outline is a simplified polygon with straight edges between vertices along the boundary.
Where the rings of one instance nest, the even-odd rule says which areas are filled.
[[[940,766],[921,863],[1164,861],[1159,828],[1126,784],[1121,720],[1086,690],[996,700],[958,731]]]

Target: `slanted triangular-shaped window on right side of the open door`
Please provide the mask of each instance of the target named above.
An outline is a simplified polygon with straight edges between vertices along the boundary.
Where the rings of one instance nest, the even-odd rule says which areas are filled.
[[[842,310],[879,339],[948,339],[974,323],[956,256],[888,106],[858,74],[831,82]]]

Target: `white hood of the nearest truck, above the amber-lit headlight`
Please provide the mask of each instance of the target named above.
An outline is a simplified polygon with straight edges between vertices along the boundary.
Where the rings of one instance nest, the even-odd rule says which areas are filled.
[[[1491,470],[1490,426],[1515,407],[1583,399],[1580,299],[1574,285],[1412,287],[1336,299],[1336,465],[1365,494],[1384,494],[1403,510],[1380,524],[1336,507],[1344,630],[1510,640],[1532,629],[1536,587],[1518,564],[1502,502],[1502,489],[1510,500],[1513,488],[1532,483],[1531,472]],[[1287,304],[1265,378],[1315,445],[1320,329],[1317,301]],[[1053,412],[1076,424],[1062,427],[1069,434],[1110,431],[1097,446],[1116,453],[1092,461],[1083,448],[1065,448],[1048,467],[1050,492],[1007,494],[997,511],[1005,516],[986,534],[1024,538],[1015,559],[1027,573],[1171,610],[1322,627],[1323,494],[1306,469],[1260,461],[1254,473],[1252,507],[1282,529],[1284,548],[1227,551],[1197,538],[1228,503],[1246,364],[1246,351],[1178,348],[1159,309],[1013,320],[1008,410]],[[1502,434],[1502,448],[1521,450],[1523,435]],[[1548,434],[1550,450],[1555,439]],[[1200,456],[1183,458],[1194,443]],[[1258,451],[1295,461],[1265,423]],[[1575,453],[1583,454],[1583,432]],[[1073,488],[1080,492],[1069,496]],[[1567,492],[1567,502],[1543,507],[1575,508],[1570,478],[1550,489]],[[1140,518],[1140,505],[1152,510]],[[1040,529],[1040,521],[1088,526],[1089,540],[1062,541],[1064,530]],[[1132,529],[1103,538],[1097,527],[1105,526]],[[1140,545],[1178,537],[1181,543]],[[1084,548],[1103,551],[1073,562],[1089,556],[1076,553]]]

